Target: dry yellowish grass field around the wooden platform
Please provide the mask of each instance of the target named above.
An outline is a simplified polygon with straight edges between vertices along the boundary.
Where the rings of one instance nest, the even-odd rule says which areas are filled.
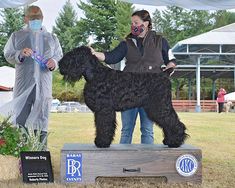
[[[233,188],[235,187],[235,114],[217,113],[179,113],[180,119],[186,124],[192,144],[202,150],[202,186],[187,185],[155,185],[147,181],[114,181],[98,182],[97,187],[203,187]],[[117,117],[118,129],[114,143],[120,138],[120,114]],[[155,126],[156,127],[156,126]],[[60,179],[60,149],[64,143],[93,143],[94,120],[91,113],[51,114],[49,125],[49,150],[55,176],[55,184],[24,185],[21,180],[0,183],[0,187],[65,187]],[[155,143],[162,143],[162,132],[154,129]],[[139,123],[136,126],[133,143],[140,143]],[[68,187],[77,187],[70,185]],[[79,186],[80,187],[80,186]],[[81,187],[94,187],[86,185]]]

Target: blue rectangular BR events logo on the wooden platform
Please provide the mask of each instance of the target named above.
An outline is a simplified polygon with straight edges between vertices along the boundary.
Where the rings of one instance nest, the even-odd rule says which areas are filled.
[[[82,154],[66,155],[66,181],[82,181]]]

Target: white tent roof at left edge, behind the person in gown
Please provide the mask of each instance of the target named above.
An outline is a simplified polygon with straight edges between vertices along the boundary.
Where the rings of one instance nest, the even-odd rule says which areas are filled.
[[[0,86],[13,88],[15,84],[15,69],[8,66],[0,67]]]

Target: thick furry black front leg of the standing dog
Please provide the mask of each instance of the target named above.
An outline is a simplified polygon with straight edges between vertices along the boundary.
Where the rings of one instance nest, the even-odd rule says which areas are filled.
[[[106,108],[95,112],[95,126],[95,145],[98,148],[109,147],[115,135],[116,112]]]

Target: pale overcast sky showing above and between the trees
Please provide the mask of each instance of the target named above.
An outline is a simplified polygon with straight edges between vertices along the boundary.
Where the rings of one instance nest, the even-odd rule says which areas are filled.
[[[76,3],[79,2],[78,0],[70,0],[71,3],[74,5],[76,12],[79,17],[83,16],[81,10],[77,8]],[[43,24],[47,28],[48,31],[52,31],[52,26],[55,25],[55,20],[61,11],[63,5],[65,4],[66,0],[57,0],[56,2],[53,0],[38,0],[37,2],[33,3],[33,5],[39,6],[44,14]],[[156,8],[163,9],[164,7],[155,7],[155,6],[145,6],[145,5],[135,5],[136,9],[146,9],[147,11],[152,14]]]

